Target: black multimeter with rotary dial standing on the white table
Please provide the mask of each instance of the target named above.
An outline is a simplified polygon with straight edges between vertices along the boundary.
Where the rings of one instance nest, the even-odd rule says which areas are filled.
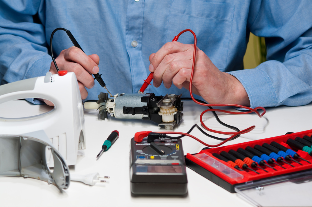
[[[135,195],[184,195],[187,176],[181,139],[131,139],[130,184]]]

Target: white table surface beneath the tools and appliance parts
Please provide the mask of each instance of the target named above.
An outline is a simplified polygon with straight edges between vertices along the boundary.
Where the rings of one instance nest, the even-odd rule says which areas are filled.
[[[173,131],[187,132],[193,124],[200,125],[199,115],[205,109],[206,107],[196,105],[192,101],[184,101],[183,121],[174,127]],[[22,100],[10,101],[0,104],[0,117],[27,117],[49,110],[51,108],[45,105],[36,106]],[[256,125],[254,131],[226,145],[284,135],[289,131],[311,129],[311,104],[300,107],[281,106],[266,110],[262,118],[256,114],[220,114],[223,122],[241,130]],[[224,129],[217,124],[209,112],[204,115],[204,120],[208,127]],[[119,138],[108,151],[96,159],[104,140],[113,130],[119,131]],[[189,168],[187,168],[188,194],[185,196],[132,196],[129,181],[129,146],[130,139],[138,131],[165,130],[150,121],[119,120],[115,117],[100,120],[98,111],[85,109],[87,149],[78,151],[77,163],[70,167],[70,173],[98,172],[100,175],[110,176],[108,182],[97,183],[95,186],[70,182],[69,188],[60,192],[56,186],[40,180],[0,177],[0,206],[252,206],[238,194],[226,191]],[[201,135],[198,130],[194,130],[191,134],[208,144],[220,142]],[[189,137],[183,137],[182,140],[184,154],[197,153],[204,147]]]

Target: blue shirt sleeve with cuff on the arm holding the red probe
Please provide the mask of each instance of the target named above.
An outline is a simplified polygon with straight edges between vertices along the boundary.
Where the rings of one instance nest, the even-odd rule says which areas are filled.
[[[229,72],[244,86],[252,108],[312,101],[312,4],[262,1],[250,7],[247,27],[266,38],[267,61]]]

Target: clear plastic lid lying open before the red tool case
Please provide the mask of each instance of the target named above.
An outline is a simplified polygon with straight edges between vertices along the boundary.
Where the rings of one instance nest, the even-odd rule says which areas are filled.
[[[239,196],[256,206],[312,206],[312,170],[246,182],[235,186]]]

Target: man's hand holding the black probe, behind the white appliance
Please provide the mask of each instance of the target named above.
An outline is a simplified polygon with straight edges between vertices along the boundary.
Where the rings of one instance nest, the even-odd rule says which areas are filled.
[[[67,70],[68,72],[74,72],[81,94],[81,99],[86,99],[88,92],[86,88],[92,88],[94,86],[94,79],[92,74],[99,72],[100,58],[96,54],[86,55],[81,49],[73,46],[71,48],[63,50],[55,62],[59,70]],[[56,68],[54,63],[51,62],[50,70],[52,74],[56,74]],[[46,104],[53,106],[50,101],[44,100]]]

